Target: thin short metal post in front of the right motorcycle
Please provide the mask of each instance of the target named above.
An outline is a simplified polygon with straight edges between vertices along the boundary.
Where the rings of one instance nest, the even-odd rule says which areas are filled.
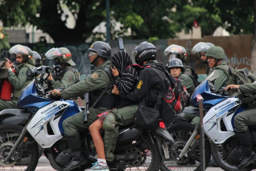
[[[199,103],[200,112],[200,153],[201,153],[201,171],[205,170],[205,145],[204,145],[204,113],[203,113],[203,97],[199,94],[196,96]]]

